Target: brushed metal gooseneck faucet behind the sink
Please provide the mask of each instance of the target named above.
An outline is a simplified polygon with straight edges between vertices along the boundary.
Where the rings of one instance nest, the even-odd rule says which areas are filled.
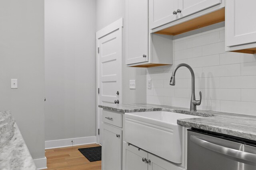
[[[190,101],[190,111],[196,111],[196,106],[200,105],[201,101],[202,101],[202,92],[199,92],[200,100],[196,100],[196,97],[195,97],[195,74],[194,74],[194,71],[191,68],[191,66],[189,66],[188,64],[185,64],[185,63],[178,64],[174,68],[174,70],[172,71],[172,77],[171,77],[171,80],[170,80],[170,85],[171,86],[175,85],[175,74],[176,74],[176,71],[178,70],[178,68],[180,68],[182,66],[188,68],[188,70],[190,70],[190,72],[191,72],[191,76],[192,76],[192,95],[191,95],[191,101]]]

